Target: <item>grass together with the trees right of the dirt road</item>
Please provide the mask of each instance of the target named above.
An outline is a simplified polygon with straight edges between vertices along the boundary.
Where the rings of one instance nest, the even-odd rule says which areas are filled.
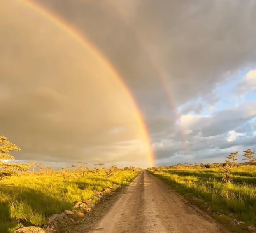
[[[177,164],[148,170],[174,190],[201,205],[234,230],[256,226],[255,152],[243,153],[245,163],[237,163],[238,152],[224,163]],[[248,226],[249,224],[249,226]],[[240,227],[238,227],[240,225]],[[241,230],[240,229],[240,230]]]

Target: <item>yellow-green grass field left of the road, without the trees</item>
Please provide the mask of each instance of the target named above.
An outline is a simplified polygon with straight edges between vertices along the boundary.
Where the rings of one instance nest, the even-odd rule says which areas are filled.
[[[13,232],[22,224],[46,224],[48,216],[71,209],[75,201],[92,199],[96,203],[98,192],[127,185],[137,174],[123,170],[112,178],[99,173],[68,179],[58,173],[6,178],[0,183],[0,232]]]

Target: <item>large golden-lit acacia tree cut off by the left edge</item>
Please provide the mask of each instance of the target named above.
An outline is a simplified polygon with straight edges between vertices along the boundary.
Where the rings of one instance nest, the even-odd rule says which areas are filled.
[[[9,154],[11,151],[20,151],[21,148],[14,143],[7,141],[7,138],[0,136],[0,180],[6,176],[12,176],[19,171],[28,171],[29,165],[26,163],[8,163],[14,160],[14,156]]]

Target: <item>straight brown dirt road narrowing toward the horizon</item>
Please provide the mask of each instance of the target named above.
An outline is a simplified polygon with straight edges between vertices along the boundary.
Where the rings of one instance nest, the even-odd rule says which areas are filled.
[[[165,183],[142,171],[95,226],[98,233],[227,233]]]

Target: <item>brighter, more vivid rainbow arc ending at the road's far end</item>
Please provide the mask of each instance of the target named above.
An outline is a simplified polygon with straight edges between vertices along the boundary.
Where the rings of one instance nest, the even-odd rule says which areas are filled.
[[[154,156],[154,151],[151,146],[151,138],[149,136],[146,124],[144,122],[144,119],[142,117],[142,114],[140,113],[139,107],[137,106],[132,93],[128,89],[126,83],[124,83],[123,79],[119,75],[119,73],[116,71],[116,69],[110,64],[108,59],[100,52],[92,43],[89,42],[88,38],[86,38],[84,35],[79,33],[79,31],[75,30],[74,27],[72,27],[70,24],[68,24],[64,19],[60,18],[59,16],[54,15],[52,12],[49,10],[45,9],[41,5],[31,2],[30,0],[19,0],[22,3],[26,4],[28,7],[30,7],[33,10],[37,10],[41,15],[44,17],[47,17],[50,21],[52,21],[56,26],[62,28],[65,30],[70,36],[72,36],[75,40],[77,40],[82,46],[86,47],[89,49],[96,57],[99,57],[102,63],[107,67],[112,73],[113,77],[116,78],[117,82],[120,84],[120,86],[123,88],[123,91],[127,96],[130,98],[130,101],[136,110],[136,116],[138,118],[138,122],[142,126],[143,134],[147,140],[148,144],[148,149],[149,149],[149,160],[151,162],[151,166],[155,166],[155,156]]]

